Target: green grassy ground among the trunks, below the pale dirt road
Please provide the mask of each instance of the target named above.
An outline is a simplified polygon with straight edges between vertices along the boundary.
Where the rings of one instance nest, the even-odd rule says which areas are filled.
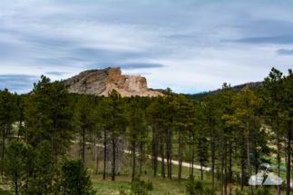
[[[73,145],[72,151],[69,152],[69,156],[73,159],[78,158],[78,150],[79,145],[75,143]],[[94,159],[92,155],[91,149],[86,150],[86,162],[85,165],[89,169],[91,178],[93,180],[93,188],[98,190],[97,194],[119,194],[119,190],[123,186],[123,189],[129,190],[130,192],[130,183],[131,183],[131,173],[132,168],[130,166],[130,156],[125,154],[124,158],[124,166],[122,168],[122,175],[116,176],[115,181],[111,180],[111,176],[109,175],[106,180],[103,180],[102,175],[102,161],[99,161],[99,173],[96,175],[94,173]],[[101,158],[101,157],[100,157]],[[159,161],[158,165],[158,172],[157,177],[153,177],[153,171],[151,171],[151,161],[147,160],[146,163],[143,163],[142,166],[142,180],[151,180],[154,185],[154,190],[149,191],[150,195],[163,195],[166,192],[170,192],[170,194],[186,194],[185,193],[185,182],[190,175],[190,168],[189,167],[182,167],[182,180],[181,183],[177,183],[177,173],[178,173],[178,166],[172,165],[172,180],[168,178],[162,179],[161,178],[161,161]],[[239,167],[234,166],[236,171],[240,171]],[[147,171],[147,174],[144,174],[144,171]],[[200,170],[194,169],[194,175],[196,180],[200,180]],[[204,188],[210,188],[211,186],[211,178],[210,175],[204,172],[204,178],[202,180]],[[220,180],[215,180],[215,184],[220,186]],[[234,186],[234,190],[239,186]],[[234,194],[234,190],[232,190]],[[245,186],[244,191],[249,192],[249,187]],[[258,191],[257,189],[253,190],[255,193]],[[270,190],[272,194],[277,194],[277,190]],[[220,188],[218,193],[220,194]],[[281,194],[286,194],[285,191],[282,191]]]

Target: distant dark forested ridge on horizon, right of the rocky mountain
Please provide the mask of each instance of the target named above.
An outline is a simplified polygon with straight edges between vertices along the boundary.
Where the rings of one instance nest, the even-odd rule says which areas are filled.
[[[255,82],[255,83],[243,83],[239,85],[235,85],[232,87],[234,93],[241,93],[241,90],[244,90],[246,88],[249,88],[250,90],[257,90],[259,87],[262,87],[262,82]],[[210,92],[202,92],[202,93],[181,93],[184,95],[187,99],[190,100],[197,100],[202,102],[204,97],[210,94],[217,94],[218,90],[210,91]]]

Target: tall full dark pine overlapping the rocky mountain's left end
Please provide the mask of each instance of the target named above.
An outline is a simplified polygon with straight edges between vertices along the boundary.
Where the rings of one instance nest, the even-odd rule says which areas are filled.
[[[34,83],[33,93],[26,106],[24,139],[34,148],[43,141],[49,141],[57,156],[69,149],[73,140],[73,109],[67,88],[44,75],[42,81]]]

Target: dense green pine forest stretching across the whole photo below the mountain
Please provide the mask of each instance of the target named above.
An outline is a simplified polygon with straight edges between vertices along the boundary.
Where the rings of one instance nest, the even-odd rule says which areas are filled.
[[[256,92],[247,88],[233,93],[224,83],[217,94],[204,97],[203,102],[176,95],[170,88],[158,97],[121,97],[115,90],[108,97],[74,94],[68,93],[63,83],[45,76],[41,79],[29,95],[0,91],[1,175],[12,181],[15,194],[93,194],[83,163],[85,145],[91,144],[97,174],[97,143],[103,148],[103,179],[109,170],[112,180],[120,175],[125,148],[132,154],[132,180],[142,173],[142,163],[150,155],[154,177],[159,176],[159,157],[163,179],[172,180],[171,161],[179,161],[178,183],[182,162],[190,163],[190,175],[193,164],[199,163],[201,180],[203,167],[210,167],[211,189],[215,188],[215,174],[220,174],[220,193],[231,194],[229,186],[236,174],[233,161],[239,160],[243,190],[246,175],[250,177],[253,170],[257,173],[259,165],[276,153],[278,176],[285,157],[287,183],[290,181],[291,70],[283,76],[273,68]],[[80,160],[69,161],[65,154],[76,140]],[[269,144],[275,144],[277,150]],[[16,151],[19,154],[15,156]],[[73,175],[82,178],[80,186],[71,183]],[[289,190],[287,185],[287,194]]]

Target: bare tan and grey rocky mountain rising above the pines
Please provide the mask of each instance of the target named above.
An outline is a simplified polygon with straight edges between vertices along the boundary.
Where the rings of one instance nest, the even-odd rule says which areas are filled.
[[[70,86],[70,93],[85,93],[108,96],[116,90],[124,96],[157,96],[162,93],[148,89],[145,77],[140,75],[123,75],[120,68],[106,68],[79,73],[64,81]]]

